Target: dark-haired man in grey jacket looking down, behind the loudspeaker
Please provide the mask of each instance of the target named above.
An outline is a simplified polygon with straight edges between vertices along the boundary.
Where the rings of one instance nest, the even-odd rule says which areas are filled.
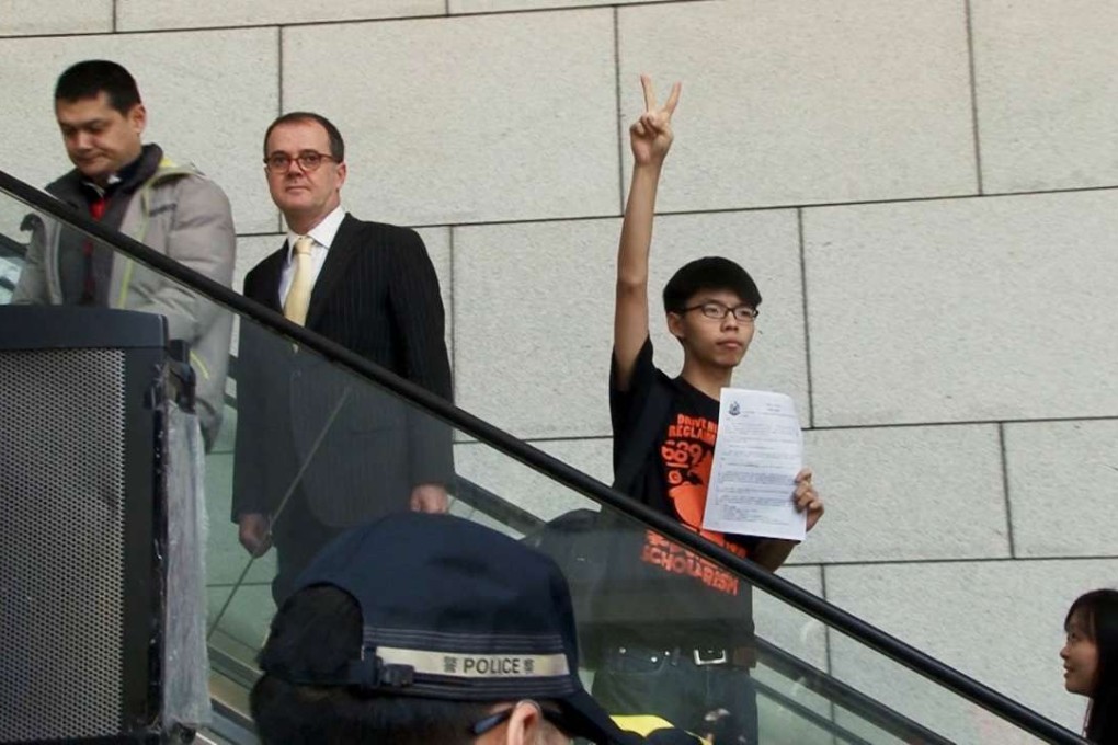
[[[68,68],[55,114],[74,170],[47,191],[75,210],[225,286],[236,231],[229,200],[190,165],[142,142],[146,111],[126,69],[106,60]],[[206,447],[221,423],[233,316],[151,269],[57,223],[36,222],[12,303],[93,305],[157,313],[190,344]]]

